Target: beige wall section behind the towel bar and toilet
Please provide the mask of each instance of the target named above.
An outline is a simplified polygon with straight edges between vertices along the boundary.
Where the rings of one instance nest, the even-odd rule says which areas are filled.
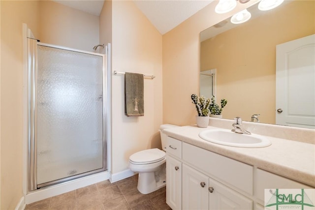
[[[126,117],[124,75],[112,76],[112,173],[129,156],[158,147],[162,123],[162,36],[132,1],[112,2],[112,69],[155,75],[144,80],[144,117]],[[102,27],[102,26],[101,26]],[[100,37],[102,38],[102,37]]]

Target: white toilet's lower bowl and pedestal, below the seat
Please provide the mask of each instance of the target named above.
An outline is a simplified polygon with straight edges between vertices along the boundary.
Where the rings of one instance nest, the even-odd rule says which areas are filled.
[[[149,194],[166,185],[165,163],[158,172],[139,173],[138,190],[142,194]]]

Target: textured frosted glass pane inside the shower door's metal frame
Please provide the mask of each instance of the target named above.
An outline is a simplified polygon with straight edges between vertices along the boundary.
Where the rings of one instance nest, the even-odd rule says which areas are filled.
[[[102,57],[45,46],[37,56],[37,184],[102,168]]]

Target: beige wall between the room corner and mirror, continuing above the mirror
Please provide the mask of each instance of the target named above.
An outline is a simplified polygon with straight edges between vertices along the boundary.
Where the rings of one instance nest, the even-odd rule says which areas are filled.
[[[199,94],[199,33],[254,2],[216,14],[214,1],[163,35],[163,123],[195,124],[197,112],[190,95]]]

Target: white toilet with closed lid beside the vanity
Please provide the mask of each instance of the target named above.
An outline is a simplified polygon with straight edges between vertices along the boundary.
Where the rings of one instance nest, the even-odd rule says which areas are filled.
[[[158,148],[142,150],[129,157],[129,169],[139,173],[138,190],[142,194],[154,192],[166,184],[166,135],[162,133],[162,130],[171,127],[177,127],[177,125],[162,124],[159,129],[164,151]]]

